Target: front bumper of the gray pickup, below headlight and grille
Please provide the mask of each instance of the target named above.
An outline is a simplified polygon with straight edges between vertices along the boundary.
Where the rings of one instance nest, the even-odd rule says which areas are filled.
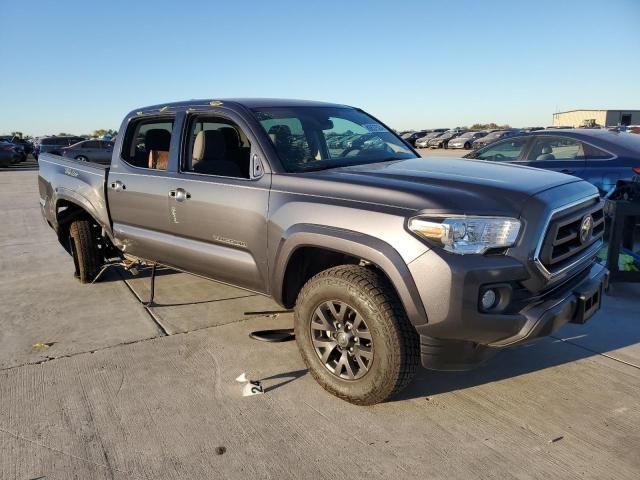
[[[416,325],[421,336],[494,348],[550,335],[568,322],[584,323],[600,308],[609,279],[604,266],[590,263],[562,284],[534,293],[522,286],[529,274],[516,259],[433,250],[409,270],[427,313],[427,322]],[[502,300],[482,312],[479,298],[487,288],[497,289]]]

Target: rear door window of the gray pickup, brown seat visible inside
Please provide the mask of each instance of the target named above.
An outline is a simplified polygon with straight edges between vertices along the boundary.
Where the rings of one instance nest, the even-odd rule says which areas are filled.
[[[138,168],[166,170],[173,118],[137,120],[129,124],[122,147],[122,159]]]

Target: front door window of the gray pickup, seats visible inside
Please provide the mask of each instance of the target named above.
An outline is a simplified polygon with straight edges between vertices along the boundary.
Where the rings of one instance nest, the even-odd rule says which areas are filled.
[[[251,142],[238,124],[223,117],[194,117],[189,132],[183,172],[250,178]]]

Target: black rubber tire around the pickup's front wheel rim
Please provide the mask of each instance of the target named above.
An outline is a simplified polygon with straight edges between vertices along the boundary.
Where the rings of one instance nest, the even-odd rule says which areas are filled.
[[[364,376],[346,380],[325,367],[313,345],[313,314],[335,300],[365,319],[373,341],[373,360]],[[374,268],[342,265],[318,273],[302,288],[294,327],[300,355],[316,381],[328,392],[356,405],[383,402],[406,387],[420,364],[420,342],[389,280]]]

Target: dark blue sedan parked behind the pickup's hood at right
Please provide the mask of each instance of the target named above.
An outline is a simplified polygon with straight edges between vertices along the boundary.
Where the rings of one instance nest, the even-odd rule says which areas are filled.
[[[540,130],[491,143],[465,158],[574,175],[604,195],[616,181],[640,174],[640,135],[605,129]]]

